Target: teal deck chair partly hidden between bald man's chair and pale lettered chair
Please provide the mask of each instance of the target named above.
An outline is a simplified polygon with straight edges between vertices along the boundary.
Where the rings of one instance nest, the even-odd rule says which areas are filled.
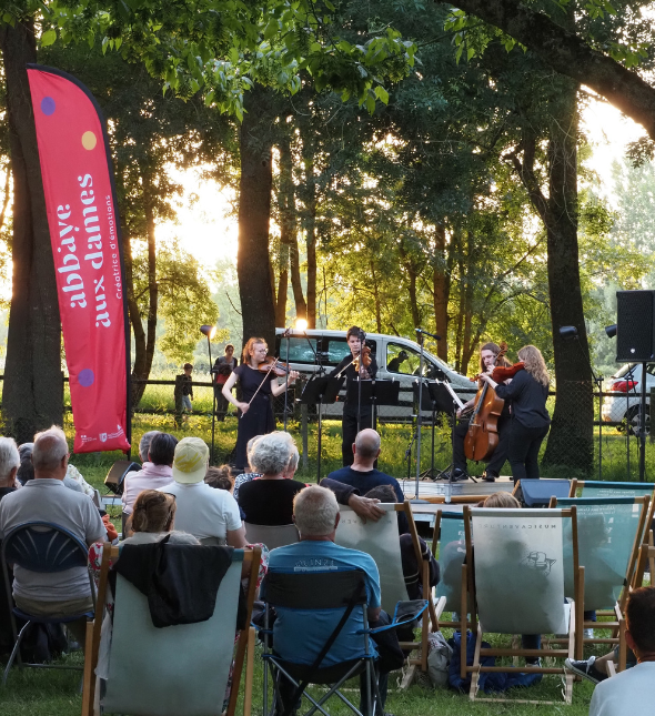
[[[439,547],[439,556],[437,556]],[[460,621],[444,621],[444,612],[460,612],[462,607],[462,565],[466,557],[464,514],[437,512],[432,539],[432,554],[439,562],[439,584],[434,589],[439,628],[461,627]]]

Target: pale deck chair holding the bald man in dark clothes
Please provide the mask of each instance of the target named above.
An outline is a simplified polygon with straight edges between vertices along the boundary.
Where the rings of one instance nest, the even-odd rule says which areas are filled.
[[[416,554],[416,562],[423,567],[421,575],[423,584],[423,598],[427,599],[430,618],[422,619],[421,641],[420,642],[401,642],[403,649],[421,649],[419,657],[410,656],[410,665],[419,666],[422,672],[427,672],[427,635],[431,631],[436,631],[437,618],[434,601],[430,589],[430,565],[421,557],[421,545],[419,544],[419,534],[410,503],[380,503],[377,505],[386,512],[384,517],[377,522],[364,521],[359,517],[350,507],[341,506],[341,520],[336,527],[335,543],[360,549],[370,554],[380,572],[380,588],[382,595],[382,608],[393,615],[399,602],[409,599],[403,567],[401,562],[401,546],[399,539],[397,515],[404,513],[410,525],[410,534]]]

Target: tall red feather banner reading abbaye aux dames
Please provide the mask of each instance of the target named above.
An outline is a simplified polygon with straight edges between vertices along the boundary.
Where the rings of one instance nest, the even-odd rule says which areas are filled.
[[[73,77],[28,65],[59,312],[75,425],[74,452],[130,448],[129,327],[120,221],[104,121]]]

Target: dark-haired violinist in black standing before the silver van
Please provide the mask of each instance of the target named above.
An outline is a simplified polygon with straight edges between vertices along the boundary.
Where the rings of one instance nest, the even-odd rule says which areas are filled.
[[[364,342],[364,332],[356,325],[351,326],[346,333],[346,341],[350,347],[351,354],[346,355],[343,361],[330,373],[330,377],[335,377],[336,375],[345,375],[345,387],[346,395],[350,384],[357,377],[357,371],[354,367],[354,359],[360,356],[360,349],[364,346],[363,353],[364,360],[359,361],[360,364],[360,380],[366,381],[375,377],[377,373],[377,363],[375,359],[370,355],[366,355],[369,352],[365,342]],[[370,360],[369,365],[365,363]],[[342,431],[342,442],[341,442],[341,453],[343,456],[343,466],[352,465],[354,455],[353,455],[353,443],[357,436],[357,423],[359,430],[364,430],[365,427],[373,426],[373,409],[371,405],[362,405],[361,411],[357,411],[359,404],[355,401],[354,403],[349,402],[347,397],[343,405],[343,417],[341,421],[341,431]]]

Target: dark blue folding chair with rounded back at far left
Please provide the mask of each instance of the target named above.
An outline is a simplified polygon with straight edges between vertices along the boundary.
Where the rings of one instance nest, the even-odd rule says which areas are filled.
[[[89,548],[72,532],[49,522],[26,522],[11,530],[2,541],[2,573],[4,587],[7,589],[7,602],[13,604],[11,582],[9,579],[9,565],[18,565],[30,572],[52,574],[64,572],[73,567],[88,567]],[[91,574],[89,574],[89,586],[93,607],[95,607],[95,591]],[[10,608],[11,628],[13,632],[13,649],[4,667],[2,685],[7,684],[9,669],[16,659],[19,666],[32,666],[36,668],[67,668],[82,670],[81,666],[63,666],[53,664],[26,664],[20,656],[21,641],[32,624],[68,624],[82,617],[93,618],[93,612],[72,614],[69,616],[43,616],[28,614],[18,607]],[[26,622],[18,631],[16,618]]]

